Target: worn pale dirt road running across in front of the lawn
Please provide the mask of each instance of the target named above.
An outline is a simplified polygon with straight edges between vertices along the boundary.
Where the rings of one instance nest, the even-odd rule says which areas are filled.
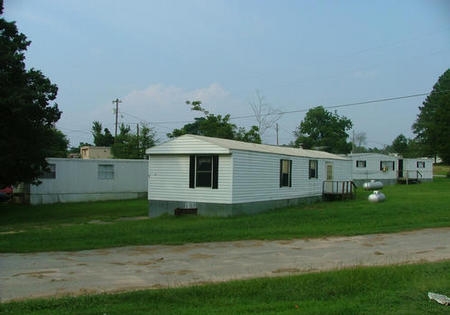
[[[320,239],[0,254],[0,300],[448,259],[450,228]]]

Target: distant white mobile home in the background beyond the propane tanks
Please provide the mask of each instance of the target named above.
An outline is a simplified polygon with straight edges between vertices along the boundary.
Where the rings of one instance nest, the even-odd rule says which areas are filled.
[[[349,157],[352,159],[352,179],[359,186],[370,180],[385,185],[433,180],[431,159],[407,159],[379,153],[354,153]]]

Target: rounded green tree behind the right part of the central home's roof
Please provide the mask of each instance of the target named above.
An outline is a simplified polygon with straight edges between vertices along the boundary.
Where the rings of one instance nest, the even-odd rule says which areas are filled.
[[[322,106],[310,109],[305,119],[294,131],[296,147],[317,148],[331,153],[349,153],[352,144],[347,142],[347,131],[352,121],[336,112],[331,113]]]

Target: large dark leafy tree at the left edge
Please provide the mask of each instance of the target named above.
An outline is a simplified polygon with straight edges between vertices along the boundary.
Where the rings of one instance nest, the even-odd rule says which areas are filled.
[[[61,111],[50,104],[58,88],[41,71],[26,70],[29,45],[15,22],[0,18],[0,186],[37,182],[55,150],[53,141],[63,140],[55,128]]]

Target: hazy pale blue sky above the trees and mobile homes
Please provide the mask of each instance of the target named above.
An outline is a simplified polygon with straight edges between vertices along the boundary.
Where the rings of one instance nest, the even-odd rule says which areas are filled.
[[[382,148],[414,137],[450,68],[447,0],[4,0],[3,16],[32,42],[27,68],[58,86],[71,146],[93,143],[93,121],[114,134],[117,98],[119,123],[164,142],[199,117],[186,100],[249,128],[259,93],[265,112],[283,113],[279,144],[324,106]],[[275,126],[263,143],[277,143]]]

